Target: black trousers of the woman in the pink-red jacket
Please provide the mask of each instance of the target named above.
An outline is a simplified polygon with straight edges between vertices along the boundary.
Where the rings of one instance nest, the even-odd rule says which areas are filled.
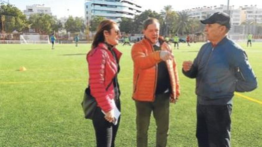
[[[116,101],[116,106],[120,111],[119,99]],[[114,147],[120,117],[117,125],[114,125],[105,119],[105,114],[101,112],[101,108],[97,107],[94,115],[93,126],[96,132],[96,147]]]

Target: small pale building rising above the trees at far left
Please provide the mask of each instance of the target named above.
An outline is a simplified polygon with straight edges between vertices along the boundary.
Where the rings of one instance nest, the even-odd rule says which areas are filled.
[[[29,18],[31,14],[37,14],[37,13],[52,15],[51,8],[45,7],[44,4],[27,5],[26,10],[24,10],[24,14],[26,15],[26,18]]]

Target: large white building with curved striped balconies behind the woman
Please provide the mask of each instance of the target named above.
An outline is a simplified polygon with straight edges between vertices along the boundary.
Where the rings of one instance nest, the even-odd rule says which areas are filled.
[[[135,0],[85,0],[85,24],[94,16],[102,16],[115,22],[121,18],[134,18],[142,12]]]

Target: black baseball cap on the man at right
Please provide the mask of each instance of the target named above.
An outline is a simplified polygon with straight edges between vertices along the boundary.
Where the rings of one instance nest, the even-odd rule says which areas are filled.
[[[211,15],[209,18],[205,20],[200,20],[203,24],[214,24],[218,23],[223,26],[226,26],[227,29],[230,29],[230,16],[227,13],[224,12],[216,12],[213,15]]]

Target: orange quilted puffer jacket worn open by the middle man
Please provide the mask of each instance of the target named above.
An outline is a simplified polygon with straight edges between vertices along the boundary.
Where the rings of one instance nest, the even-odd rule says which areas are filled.
[[[164,49],[161,47],[161,50]],[[133,99],[153,102],[157,85],[157,64],[161,61],[160,52],[154,51],[149,40],[142,39],[132,46],[131,55],[134,62]],[[175,59],[166,61],[166,65],[171,82],[170,97],[178,99],[180,90]]]

